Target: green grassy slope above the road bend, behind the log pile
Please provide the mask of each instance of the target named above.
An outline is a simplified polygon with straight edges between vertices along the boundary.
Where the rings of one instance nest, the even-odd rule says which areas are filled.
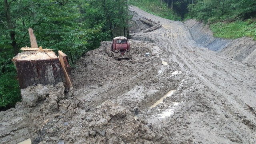
[[[163,1],[162,6],[159,0],[129,0],[128,3],[133,6],[156,16],[169,20],[180,20],[180,16],[174,13],[173,10],[167,8],[167,4]]]

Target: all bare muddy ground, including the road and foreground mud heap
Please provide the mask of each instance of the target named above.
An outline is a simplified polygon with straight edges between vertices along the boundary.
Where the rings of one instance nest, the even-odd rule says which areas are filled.
[[[63,83],[22,90],[33,144],[255,144],[255,68],[207,49],[182,22],[130,10],[131,60],[109,57],[102,42],[77,62],[70,93]],[[162,28],[141,32],[140,16]]]

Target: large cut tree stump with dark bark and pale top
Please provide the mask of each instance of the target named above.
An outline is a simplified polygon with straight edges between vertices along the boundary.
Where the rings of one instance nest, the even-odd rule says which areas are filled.
[[[65,82],[63,68],[54,52],[25,51],[13,58],[20,89]]]

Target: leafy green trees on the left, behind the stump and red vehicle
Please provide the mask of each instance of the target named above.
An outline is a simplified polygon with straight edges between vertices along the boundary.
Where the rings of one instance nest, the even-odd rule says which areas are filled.
[[[11,59],[30,47],[28,28],[38,46],[66,53],[71,65],[103,40],[126,36],[128,6],[124,0],[2,0],[0,1],[0,106],[20,100]]]

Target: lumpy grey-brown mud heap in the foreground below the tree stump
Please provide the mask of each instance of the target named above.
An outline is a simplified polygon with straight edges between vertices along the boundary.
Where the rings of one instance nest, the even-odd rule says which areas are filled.
[[[64,84],[30,86],[22,90],[24,120],[33,144],[168,143],[152,124],[134,120],[117,103],[88,110],[83,101],[64,94]],[[30,98],[26,98],[26,97]]]

